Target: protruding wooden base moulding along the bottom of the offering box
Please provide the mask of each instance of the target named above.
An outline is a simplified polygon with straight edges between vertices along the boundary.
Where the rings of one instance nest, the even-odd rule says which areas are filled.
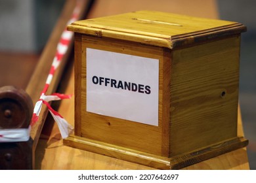
[[[182,169],[183,167],[199,163],[206,159],[214,158],[226,152],[243,148],[248,144],[248,140],[244,139],[244,137],[236,137],[193,152],[166,158],[74,135],[64,139],[63,142],[66,146],[79,148],[81,150],[88,150],[97,154],[131,161],[133,163],[154,167],[156,169]]]

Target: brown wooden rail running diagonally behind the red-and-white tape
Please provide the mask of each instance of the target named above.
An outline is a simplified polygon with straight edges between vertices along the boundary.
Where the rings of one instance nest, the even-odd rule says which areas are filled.
[[[79,13],[79,18],[82,18],[85,12],[87,12],[88,5],[90,5],[91,1],[81,0],[81,1],[77,1],[77,3],[79,3],[80,6],[82,7],[81,12]],[[41,91],[45,86],[45,82],[47,80],[47,76],[51,69],[53,58],[56,54],[56,47],[57,47],[58,41],[60,40],[60,36],[64,31],[64,29],[66,29],[66,25],[68,23],[68,20],[70,20],[72,16],[72,12],[74,10],[75,5],[76,5],[76,1],[72,1],[72,0],[66,1],[64,8],[62,10],[62,13],[60,14],[60,18],[58,18],[58,22],[56,23],[53,29],[53,33],[51,34],[49,41],[47,42],[45,49],[41,54],[39,62],[37,63],[37,67],[35,68],[35,71],[26,88],[26,92],[32,98],[33,104],[37,102],[37,100],[41,95]],[[70,44],[68,46],[67,54],[62,59],[62,64],[60,64],[60,66],[58,67],[57,71],[54,74],[53,80],[51,82],[51,85],[49,86],[47,94],[51,94],[56,91],[56,88],[60,82],[60,76],[62,76],[64,67],[66,65],[66,62],[68,61],[68,58],[72,50],[73,50],[73,46],[72,44]],[[33,151],[37,146],[37,142],[39,140],[41,130],[43,128],[43,124],[45,122],[47,114],[48,114],[48,110],[45,106],[43,106],[38,122],[32,127],[32,131],[30,135],[33,139]]]

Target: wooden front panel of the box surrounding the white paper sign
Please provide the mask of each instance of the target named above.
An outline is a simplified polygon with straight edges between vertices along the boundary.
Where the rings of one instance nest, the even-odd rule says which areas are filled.
[[[160,82],[160,92],[159,92],[159,124],[155,125],[146,125],[142,123],[135,123],[129,120],[123,120],[119,118],[114,118],[110,116],[96,115],[92,112],[87,112],[86,108],[86,58],[85,54],[81,56],[80,59],[75,61],[76,71],[81,69],[80,78],[77,78],[78,84],[75,88],[75,101],[80,103],[75,108],[75,115],[80,116],[83,120],[78,120],[75,122],[75,125],[81,124],[80,134],[75,134],[80,137],[87,137],[88,139],[95,139],[103,142],[114,143],[119,146],[124,146],[127,148],[133,148],[135,150],[141,150],[142,152],[149,152],[156,155],[161,155],[162,153],[165,156],[168,156],[168,148],[162,152],[161,141],[168,142],[168,136],[161,136],[161,131],[163,130],[163,116],[162,105],[163,105],[163,62],[165,66],[170,65],[170,58],[164,57],[167,54],[163,54],[164,48],[156,46],[148,46],[144,44],[137,44],[135,42],[124,42],[118,41],[115,39],[105,39],[98,37],[89,37],[82,35],[82,46],[81,51],[84,52],[86,48],[95,48],[99,50],[106,50],[111,52],[119,52],[122,54],[135,55],[146,58],[159,59],[159,82]],[[76,65],[77,64],[77,65]],[[165,68],[168,71],[168,67]],[[81,85],[81,88],[79,87]],[[166,92],[166,91],[165,91]],[[81,93],[81,94],[80,94]],[[81,95],[81,97],[77,97]],[[165,96],[166,97],[166,96]],[[168,106],[168,103],[165,104]],[[166,108],[165,108],[166,110]],[[167,124],[169,122],[169,118]],[[85,120],[86,119],[86,120]],[[165,126],[166,127],[166,126]],[[104,134],[104,138],[102,138]],[[116,138],[118,137],[118,138]],[[168,147],[168,145],[167,145]]]

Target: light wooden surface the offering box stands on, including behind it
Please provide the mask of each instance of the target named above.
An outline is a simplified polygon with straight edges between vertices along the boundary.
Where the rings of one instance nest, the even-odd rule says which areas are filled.
[[[122,4],[120,5],[119,3]],[[169,3],[166,1],[154,1],[154,3],[153,1],[127,1],[127,6],[123,6],[123,2],[116,0],[96,1],[96,5],[92,8],[89,17],[95,18],[96,16],[131,12],[132,10],[152,9],[190,16],[217,18],[218,13],[215,3],[215,1],[205,1],[204,3],[202,1],[193,1],[192,3],[186,0],[169,1]],[[72,63],[72,60],[70,60],[70,63]],[[48,73],[47,71],[45,72]],[[74,80],[74,69],[73,65],[70,64],[69,69],[67,68],[66,70],[66,75],[61,79],[58,92],[74,93]],[[74,106],[74,97],[60,103],[53,103],[53,107],[58,108],[58,112],[73,125]],[[46,118],[47,114],[43,115]],[[239,108],[238,135],[244,136]],[[35,169],[152,169],[152,167],[64,146],[58,127],[50,117],[45,121],[43,132],[35,150]],[[184,169],[249,169],[246,148],[240,148],[216,158],[207,159]]]

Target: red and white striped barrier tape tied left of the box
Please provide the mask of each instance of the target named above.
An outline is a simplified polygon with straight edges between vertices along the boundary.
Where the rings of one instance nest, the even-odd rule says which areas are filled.
[[[71,24],[72,22],[75,22],[78,19],[80,10],[81,10],[81,7],[79,6],[79,3],[77,3],[73,11],[72,18],[70,18],[67,25]],[[53,76],[56,69],[60,65],[63,56],[66,54],[68,50],[68,45],[70,44],[70,41],[72,40],[73,35],[74,33],[72,31],[68,31],[65,29],[60,37],[60,41],[58,42],[58,46],[56,49],[56,54],[54,56],[53,63],[51,65],[49,75],[47,76],[47,80],[45,82],[45,87],[43,88],[43,91],[41,92],[41,96],[37,101],[37,103],[35,103],[35,107],[33,109],[33,116],[32,116],[32,121],[30,123],[30,127],[28,127],[28,129],[0,129],[0,142],[28,141],[28,139],[30,138],[31,126],[37,122],[43,104],[47,106],[47,108],[49,109],[49,112],[51,113],[54,120],[58,124],[58,128],[60,129],[60,134],[63,139],[68,137],[69,133],[73,130],[72,125],[68,124],[68,122],[58,112],[56,112],[56,110],[54,110],[49,104],[49,101],[70,99],[72,95],[64,95],[60,93],[45,95],[45,93],[49,88],[49,85],[51,84],[51,81],[53,80]]]

